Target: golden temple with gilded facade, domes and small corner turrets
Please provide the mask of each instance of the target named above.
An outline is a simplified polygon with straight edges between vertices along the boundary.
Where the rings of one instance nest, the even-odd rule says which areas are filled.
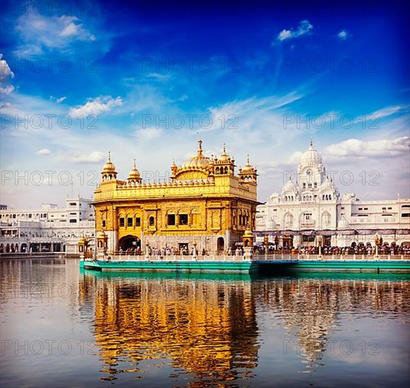
[[[257,174],[249,157],[235,172],[235,159],[223,146],[207,157],[197,154],[170,166],[170,180],[145,183],[135,163],[126,181],[118,179],[111,157],[94,192],[97,231],[108,236],[108,253],[149,247],[199,254],[234,249],[249,226],[255,227]]]

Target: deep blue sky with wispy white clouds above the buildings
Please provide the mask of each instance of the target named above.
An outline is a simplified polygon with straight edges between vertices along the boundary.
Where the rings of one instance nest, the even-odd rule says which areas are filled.
[[[408,198],[408,16],[394,1],[5,1],[0,202],[90,197],[108,150],[120,178],[133,159],[163,178],[198,136],[237,166],[250,155],[262,202],[310,138],[341,193]]]

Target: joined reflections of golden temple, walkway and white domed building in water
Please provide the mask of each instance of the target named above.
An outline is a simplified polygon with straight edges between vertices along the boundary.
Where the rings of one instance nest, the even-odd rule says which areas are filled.
[[[299,372],[323,365],[328,341],[346,311],[361,318],[399,315],[409,323],[406,279],[371,274],[177,279],[172,274],[86,271],[80,295],[94,296],[94,335],[109,375],[137,372],[143,360],[163,359],[173,368],[170,377],[190,373],[206,384],[255,377],[259,349],[272,329],[265,327],[264,313],[273,327],[285,329],[282,337],[275,332],[275,346],[296,346],[305,365]],[[118,368],[125,359],[129,367]]]

